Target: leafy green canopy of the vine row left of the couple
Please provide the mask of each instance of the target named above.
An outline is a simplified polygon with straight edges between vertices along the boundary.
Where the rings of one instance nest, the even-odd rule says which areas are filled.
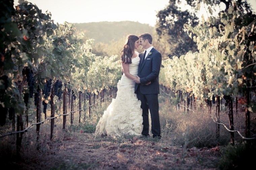
[[[62,85],[65,83],[76,96],[79,92],[100,92],[116,86],[121,78],[116,76],[117,72],[121,75],[117,56],[96,57],[91,52],[93,40],[84,41],[84,34],[76,33],[73,24],[56,25],[50,13],[42,13],[28,1],[19,3],[14,8],[13,1],[1,1],[1,125],[9,108],[14,108],[17,115],[25,114],[24,94],[31,92],[32,97],[33,93],[37,94],[37,87],[41,93],[47,80],[52,79],[52,84],[57,80]],[[32,74],[30,79],[24,68]],[[52,88],[49,87],[49,92],[53,92]],[[62,86],[61,90],[66,89]],[[51,95],[51,103],[55,103],[57,96]],[[37,100],[47,104],[50,98],[35,98]]]

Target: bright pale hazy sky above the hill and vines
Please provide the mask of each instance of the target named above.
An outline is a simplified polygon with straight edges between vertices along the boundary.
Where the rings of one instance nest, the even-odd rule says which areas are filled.
[[[154,26],[157,11],[164,9],[169,0],[28,0],[42,12],[48,10],[55,23],[138,21]],[[256,1],[248,0],[256,11]],[[17,5],[18,0],[14,0]],[[182,6],[184,8],[184,6]],[[201,8],[199,16],[205,13]],[[214,15],[214,14],[213,14]],[[199,17],[201,18],[201,17]]]

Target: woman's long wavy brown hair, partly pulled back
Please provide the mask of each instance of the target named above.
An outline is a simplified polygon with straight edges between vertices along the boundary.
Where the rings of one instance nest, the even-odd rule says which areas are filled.
[[[131,64],[132,63],[132,56],[134,53],[134,43],[135,41],[137,41],[139,39],[138,36],[135,35],[128,35],[126,37],[126,41],[123,47],[123,50],[120,52],[121,56],[121,61],[120,63],[128,63]],[[126,61],[125,61],[125,57],[126,57]]]

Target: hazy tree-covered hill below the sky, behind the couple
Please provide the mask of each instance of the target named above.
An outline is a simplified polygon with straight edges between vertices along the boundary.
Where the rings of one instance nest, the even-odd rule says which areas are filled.
[[[94,39],[94,43],[106,43],[118,41],[128,34],[140,35],[142,33],[152,33],[153,28],[149,24],[142,24],[133,21],[120,22],[88,22],[73,23],[77,33],[85,33],[85,39]]]

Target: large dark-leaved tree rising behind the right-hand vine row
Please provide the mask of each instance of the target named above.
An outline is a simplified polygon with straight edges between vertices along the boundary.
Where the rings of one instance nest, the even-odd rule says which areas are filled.
[[[186,23],[195,26],[198,23],[198,18],[194,12],[178,7],[178,3],[179,0],[169,1],[168,6],[157,13],[159,19],[156,31],[160,40],[167,39],[171,45],[170,58],[184,55],[190,50],[193,52],[197,50],[196,44],[191,40],[192,35],[188,36],[183,31],[183,25]]]

